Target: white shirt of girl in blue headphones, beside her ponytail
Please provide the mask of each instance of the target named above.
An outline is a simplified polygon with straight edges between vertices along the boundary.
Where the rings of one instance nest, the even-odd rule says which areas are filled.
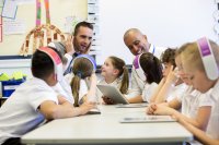
[[[73,78],[73,73],[69,73],[65,75],[65,78],[67,83],[71,83],[71,80]],[[80,81],[80,89],[79,89],[79,105],[83,104],[82,98],[88,94],[89,87],[90,87],[90,82],[85,78]]]

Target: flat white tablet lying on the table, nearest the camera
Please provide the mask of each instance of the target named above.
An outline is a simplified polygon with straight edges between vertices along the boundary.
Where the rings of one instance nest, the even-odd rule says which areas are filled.
[[[145,117],[125,117],[120,123],[150,123],[150,122],[174,122],[175,119],[170,116],[145,116]]]

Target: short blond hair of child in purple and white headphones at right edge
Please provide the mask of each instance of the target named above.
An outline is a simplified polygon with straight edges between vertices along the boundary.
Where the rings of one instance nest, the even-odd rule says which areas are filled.
[[[212,40],[209,40],[209,44],[211,46],[212,55],[215,56],[216,63],[219,67],[218,45],[214,43]],[[183,45],[180,49],[183,50],[181,53],[182,53],[182,63],[184,65],[184,69],[186,69],[187,71],[199,70],[199,71],[205,72],[200,52],[198,50],[197,41],[187,43]]]

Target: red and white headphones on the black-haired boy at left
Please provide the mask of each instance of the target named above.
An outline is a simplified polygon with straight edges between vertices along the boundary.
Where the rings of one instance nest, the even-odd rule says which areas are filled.
[[[46,55],[49,56],[49,58],[53,60],[54,62],[54,71],[56,74],[56,80],[57,81],[61,81],[64,77],[64,73],[62,73],[62,62],[60,57],[58,56],[58,53],[56,51],[54,51],[51,48],[48,47],[41,47],[38,48],[39,51],[45,52]]]

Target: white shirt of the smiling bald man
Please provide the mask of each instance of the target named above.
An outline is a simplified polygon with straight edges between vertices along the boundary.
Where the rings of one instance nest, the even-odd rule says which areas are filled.
[[[154,47],[154,45],[150,45],[149,52],[153,53],[158,59],[160,59],[161,53],[165,50],[166,48],[163,47]],[[134,68],[131,69],[131,83],[130,83],[130,90],[128,95],[126,95],[128,98],[136,97],[139,95],[142,95],[142,90],[145,88],[145,82],[141,81],[141,78],[137,75],[136,71]]]

